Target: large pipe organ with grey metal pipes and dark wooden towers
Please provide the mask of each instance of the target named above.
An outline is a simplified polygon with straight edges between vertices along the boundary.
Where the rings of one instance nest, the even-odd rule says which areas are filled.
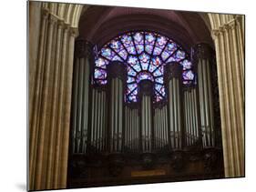
[[[156,102],[154,80],[138,81],[138,101],[127,103],[127,67],[109,62],[105,85],[93,83],[92,45],[77,40],[72,95],[72,154],[154,153],[214,147],[210,50],[193,49],[198,82],[182,84],[182,66],[164,67],[166,97]]]

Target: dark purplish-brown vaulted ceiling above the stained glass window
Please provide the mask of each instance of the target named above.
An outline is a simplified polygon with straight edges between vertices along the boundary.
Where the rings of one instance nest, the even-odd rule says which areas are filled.
[[[150,30],[167,35],[187,51],[197,43],[213,46],[207,14],[163,9],[89,5],[79,21],[79,37],[99,47],[130,30]],[[207,17],[207,16],[205,16]]]

